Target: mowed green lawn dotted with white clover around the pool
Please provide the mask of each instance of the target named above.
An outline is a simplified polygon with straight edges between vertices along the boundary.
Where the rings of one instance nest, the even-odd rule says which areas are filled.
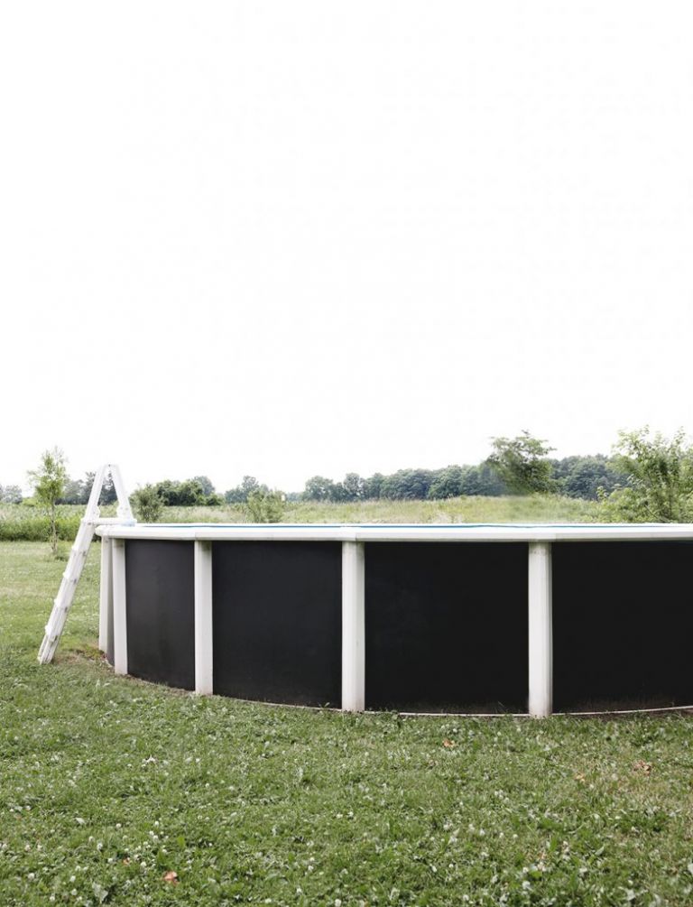
[[[115,678],[98,553],[42,668],[64,561],[0,544],[3,907],[693,903],[690,717],[348,716]]]

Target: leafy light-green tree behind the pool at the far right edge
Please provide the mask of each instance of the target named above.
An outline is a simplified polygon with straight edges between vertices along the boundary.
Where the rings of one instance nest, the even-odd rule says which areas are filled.
[[[601,495],[610,516],[627,522],[693,519],[693,449],[681,428],[672,438],[649,426],[620,432],[614,461],[630,484]]]

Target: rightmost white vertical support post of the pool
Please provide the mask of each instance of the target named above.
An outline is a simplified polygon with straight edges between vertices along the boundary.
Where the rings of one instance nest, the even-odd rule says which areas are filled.
[[[553,708],[551,543],[530,542],[529,547],[529,712],[544,718]]]

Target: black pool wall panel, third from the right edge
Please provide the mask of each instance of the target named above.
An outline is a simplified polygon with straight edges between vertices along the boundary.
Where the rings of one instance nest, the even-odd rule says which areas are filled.
[[[214,542],[212,601],[215,693],[339,707],[340,542]]]

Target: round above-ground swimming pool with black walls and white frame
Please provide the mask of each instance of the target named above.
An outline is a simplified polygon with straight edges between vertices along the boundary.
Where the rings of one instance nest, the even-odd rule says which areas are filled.
[[[693,704],[693,525],[98,533],[118,674],[347,711]]]

